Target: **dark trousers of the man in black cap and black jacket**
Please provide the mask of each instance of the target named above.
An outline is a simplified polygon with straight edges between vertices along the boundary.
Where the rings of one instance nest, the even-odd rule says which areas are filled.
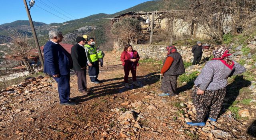
[[[75,71],[77,76],[77,86],[79,91],[86,91],[86,69],[83,71]]]

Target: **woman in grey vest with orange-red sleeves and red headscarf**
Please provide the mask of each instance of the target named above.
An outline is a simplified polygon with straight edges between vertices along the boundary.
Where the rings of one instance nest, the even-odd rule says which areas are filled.
[[[175,96],[177,88],[177,78],[185,73],[182,56],[177,52],[175,46],[167,46],[167,56],[164,60],[160,74],[163,76],[161,90],[164,92],[158,96]]]

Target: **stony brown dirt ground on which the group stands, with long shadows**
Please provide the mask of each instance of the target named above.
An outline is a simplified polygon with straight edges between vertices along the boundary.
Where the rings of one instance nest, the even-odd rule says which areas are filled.
[[[78,105],[59,104],[57,84],[44,78],[42,87],[27,86],[20,93],[2,94],[0,139],[2,140],[187,140],[187,139],[255,139],[248,134],[255,119],[238,122],[223,112],[217,123],[205,127],[186,125],[186,119],[195,118],[191,102],[191,85],[180,85],[175,97],[159,97],[157,63],[141,63],[137,68],[140,87],[124,87],[122,63],[106,52],[99,79],[93,84],[87,76],[91,94],[78,92],[74,72],[71,73],[71,98]],[[129,82],[132,83],[131,74]],[[35,87],[35,86],[34,86]],[[28,92],[25,92],[25,88]],[[24,91],[25,90],[25,91]],[[3,111],[4,110],[4,111]],[[27,111],[28,110],[28,111]],[[132,119],[120,121],[126,111]],[[254,110],[255,111],[255,110]],[[4,112],[4,113],[3,113]],[[212,130],[228,132],[216,136]]]

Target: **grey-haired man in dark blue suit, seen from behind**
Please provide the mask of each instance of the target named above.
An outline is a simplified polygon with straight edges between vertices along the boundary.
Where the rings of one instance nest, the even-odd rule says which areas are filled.
[[[64,38],[62,32],[51,30],[50,40],[44,46],[44,72],[58,83],[60,104],[76,105],[70,101],[70,69],[73,67],[71,55],[58,43]]]

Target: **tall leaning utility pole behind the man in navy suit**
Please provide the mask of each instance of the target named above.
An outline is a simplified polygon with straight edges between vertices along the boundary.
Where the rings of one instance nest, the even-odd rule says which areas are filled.
[[[26,8],[27,14],[28,14],[28,19],[29,19],[30,26],[32,28],[32,33],[33,33],[34,40],[35,40],[35,43],[36,43],[36,48],[38,50],[39,59],[40,59],[40,62],[42,64],[42,68],[44,69],[44,59],[43,59],[43,56],[42,56],[42,53],[41,53],[41,50],[40,50],[40,46],[39,46],[39,43],[38,43],[38,39],[37,39],[37,36],[36,36],[36,30],[34,28],[34,24],[33,24],[30,12],[28,10],[28,4],[27,4],[26,0],[23,0],[23,1],[24,1],[24,5],[25,5],[25,8]]]

